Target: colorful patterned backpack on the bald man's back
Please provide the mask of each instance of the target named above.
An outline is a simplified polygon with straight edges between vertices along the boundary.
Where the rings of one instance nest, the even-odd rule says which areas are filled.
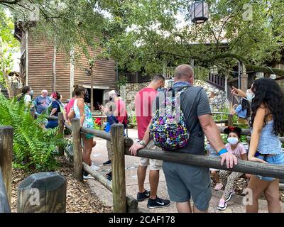
[[[185,116],[180,109],[180,95],[187,87],[175,92],[167,89],[156,99],[156,112],[149,128],[153,142],[163,150],[176,150],[187,145],[190,133],[187,131]],[[176,94],[175,94],[176,93]],[[163,99],[160,102],[160,98]],[[159,104],[160,102],[160,104]]]

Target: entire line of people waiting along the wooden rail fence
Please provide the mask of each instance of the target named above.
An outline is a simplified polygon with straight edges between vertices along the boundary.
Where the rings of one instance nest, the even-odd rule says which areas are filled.
[[[207,93],[203,88],[194,86],[192,67],[180,65],[175,69],[174,85],[170,91],[173,94],[178,94],[178,98],[173,96],[169,99],[165,94],[167,90],[163,89],[164,85],[165,78],[163,75],[157,74],[148,87],[141,89],[136,94],[138,141],[133,143],[130,148],[132,155],[137,155],[137,151],[142,148],[175,150],[192,155],[207,154],[215,158],[219,157],[221,165],[226,163],[226,167],[229,169],[237,165],[238,160],[274,165],[284,164],[284,153],[279,139],[279,135],[284,133],[284,95],[273,79],[256,79],[246,92],[233,87],[232,94],[242,98],[241,103],[234,106],[234,113],[238,114],[239,123],[251,126],[249,151],[240,143],[241,128],[238,127],[228,127],[224,130],[224,133],[227,134],[227,143],[223,143],[219,128],[212,118]],[[65,121],[79,118],[81,126],[94,128],[91,111],[85,103],[88,94],[84,87],[75,86],[72,99],[65,106],[60,101],[62,96],[58,92],[53,92],[49,98],[48,91],[43,90],[35,101],[32,101],[32,96],[31,87],[23,87],[21,98],[23,98],[26,107],[35,106],[38,114],[47,112],[50,116],[58,116],[59,112],[63,112]],[[164,98],[164,101],[161,101],[161,97]],[[167,111],[165,106],[170,104],[169,100],[173,101],[174,105],[179,101],[178,121],[176,119],[173,121],[173,116],[170,114],[160,115],[161,107]],[[111,133],[110,128],[114,123],[122,123],[124,128],[127,128],[126,105],[119,97],[118,92],[109,92],[109,102],[105,106],[100,106],[100,109],[107,115],[105,127],[107,133]],[[176,113],[174,112],[174,114]],[[175,123],[174,126],[178,127],[178,131],[173,131],[170,126],[165,130],[165,126],[170,125],[170,122],[171,126],[173,126],[173,122]],[[57,122],[48,121],[45,128],[55,128],[56,126]],[[158,129],[162,131],[158,131]],[[205,136],[208,140],[206,148],[204,148]],[[96,144],[93,137],[89,134],[84,134],[82,137],[83,161],[92,169],[99,170],[99,167],[94,165],[91,160],[92,148]],[[204,152],[205,150],[207,152]],[[107,143],[107,151],[108,160],[104,162],[104,165],[111,165],[110,143]],[[150,189],[146,189],[144,186],[148,166]],[[159,170],[161,169],[165,175],[170,200],[158,197]],[[207,167],[147,158],[141,158],[137,170],[137,200],[148,199],[148,208],[169,206],[170,201],[173,201],[176,203],[178,212],[207,212],[212,197],[210,172],[217,182],[214,189],[224,188],[222,199],[217,204],[217,209],[224,210],[234,194],[234,182],[244,173],[218,169],[210,169],[209,171]],[[107,176],[111,180],[111,172]],[[248,188],[253,192],[253,204],[246,205],[246,211],[258,211],[258,199],[264,192],[268,201],[268,211],[280,212],[279,179],[248,174],[246,177],[249,179]],[[84,179],[89,178],[92,177],[84,172]],[[191,201],[193,201],[193,206]]]

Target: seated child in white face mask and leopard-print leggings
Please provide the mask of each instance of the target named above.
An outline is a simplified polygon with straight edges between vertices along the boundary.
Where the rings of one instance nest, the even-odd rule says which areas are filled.
[[[228,127],[224,129],[224,133],[228,134],[227,141],[225,147],[229,153],[234,154],[238,159],[247,160],[246,157],[246,148],[244,145],[239,143],[241,138],[241,128],[239,127]],[[219,205],[217,209],[224,211],[227,207],[227,201],[231,199],[231,196],[234,194],[234,182],[236,179],[243,175],[242,172],[231,172],[227,170],[220,170],[219,172],[221,182],[225,186],[224,194],[219,201]],[[229,176],[228,176],[229,175]],[[250,175],[246,175],[246,177],[250,177]]]

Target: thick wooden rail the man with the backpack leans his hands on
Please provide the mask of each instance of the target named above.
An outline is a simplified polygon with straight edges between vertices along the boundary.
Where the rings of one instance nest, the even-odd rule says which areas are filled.
[[[125,155],[131,155],[129,148],[126,148]],[[284,178],[284,165],[263,164],[260,162],[250,162],[238,160],[238,165],[228,169],[226,163],[221,165],[221,159],[218,157],[209,157],[206,155],[191,155],[187,153],[178,153],[165,150],[142,149],[137,152],[138,157],[147,157],[167,162],[175,162],[185,165],[195,165],[200,167],[210,167],[219,170],[230,170],[234,172],[244,172],[252,175],[262,175],[267,177]]]

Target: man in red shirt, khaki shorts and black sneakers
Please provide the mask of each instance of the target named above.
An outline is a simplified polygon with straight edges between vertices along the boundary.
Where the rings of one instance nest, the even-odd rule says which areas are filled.
[[[137,121],[137,129],[138,129],[138,139],[140,143],[143,142],[144,134],[147,131],[149,124],[152,121],[152,106],[155,97],[158,94],[158,89],[163,88],[165,85],[165,78],[161,74],[157,74],[153,77],[152,81],[148,85],[141,89],[135,97],[135,111],[136,111],[136,121]],[[146,146],[148,149],[160,150],[160,148],[156,147],[153,143],[153,140],[148,143]],[[151,191],[148,192],[144,188],[144,182],[146,178],[146,170],[149,165],[150,173],[149,173],[149,182]],[[170,201],[168,199],[160,199],[157,196],[160,169],[163,165],[161,160],[153,160],[145,157],[141,158],[140,165],[137,170],[138,177],[138,193],[137,200],[143,201],[148,199],[148,208],[158,208],[165,207],[170,205]]]

